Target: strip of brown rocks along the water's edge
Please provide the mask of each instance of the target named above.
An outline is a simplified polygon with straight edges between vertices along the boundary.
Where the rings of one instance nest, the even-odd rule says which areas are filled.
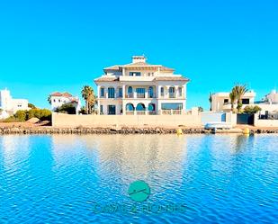
[[[184,134],[211,134],[203,128],[179,128]],[[0,135],[8,134],[175,134],[167,128],[54,128],[54,127],[0,127]],[[277,133],[278,129],[252,129],[250,134]]]

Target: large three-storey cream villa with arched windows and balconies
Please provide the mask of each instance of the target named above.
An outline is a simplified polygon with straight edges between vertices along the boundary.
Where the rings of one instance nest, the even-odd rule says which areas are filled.
[[[144,56],[132,63],[105,67],[97,85],[99,114],[183,114],[189,79],[174,69],[150,65]]]

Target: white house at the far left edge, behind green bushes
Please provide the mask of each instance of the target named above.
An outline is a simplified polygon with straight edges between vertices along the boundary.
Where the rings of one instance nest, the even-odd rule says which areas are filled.
[[[9,90],[0,90],[0,119],[5,119],[19,110],[29,110],[28,100],[13,99]]]

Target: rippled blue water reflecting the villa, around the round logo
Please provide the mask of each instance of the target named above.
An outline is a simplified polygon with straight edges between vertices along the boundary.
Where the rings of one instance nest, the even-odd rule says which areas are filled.
[[[0,223],[277,223],[278,136],[0,136],[0,208]]]

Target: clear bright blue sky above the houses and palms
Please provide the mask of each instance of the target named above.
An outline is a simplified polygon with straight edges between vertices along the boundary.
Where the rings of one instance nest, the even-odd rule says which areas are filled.
[[[191,79],[187,107],[247,84],[257,99],[278,85],[278,2],[1,1],[0,89],[49,107],[80,95],[103,67],[144,54]]]

